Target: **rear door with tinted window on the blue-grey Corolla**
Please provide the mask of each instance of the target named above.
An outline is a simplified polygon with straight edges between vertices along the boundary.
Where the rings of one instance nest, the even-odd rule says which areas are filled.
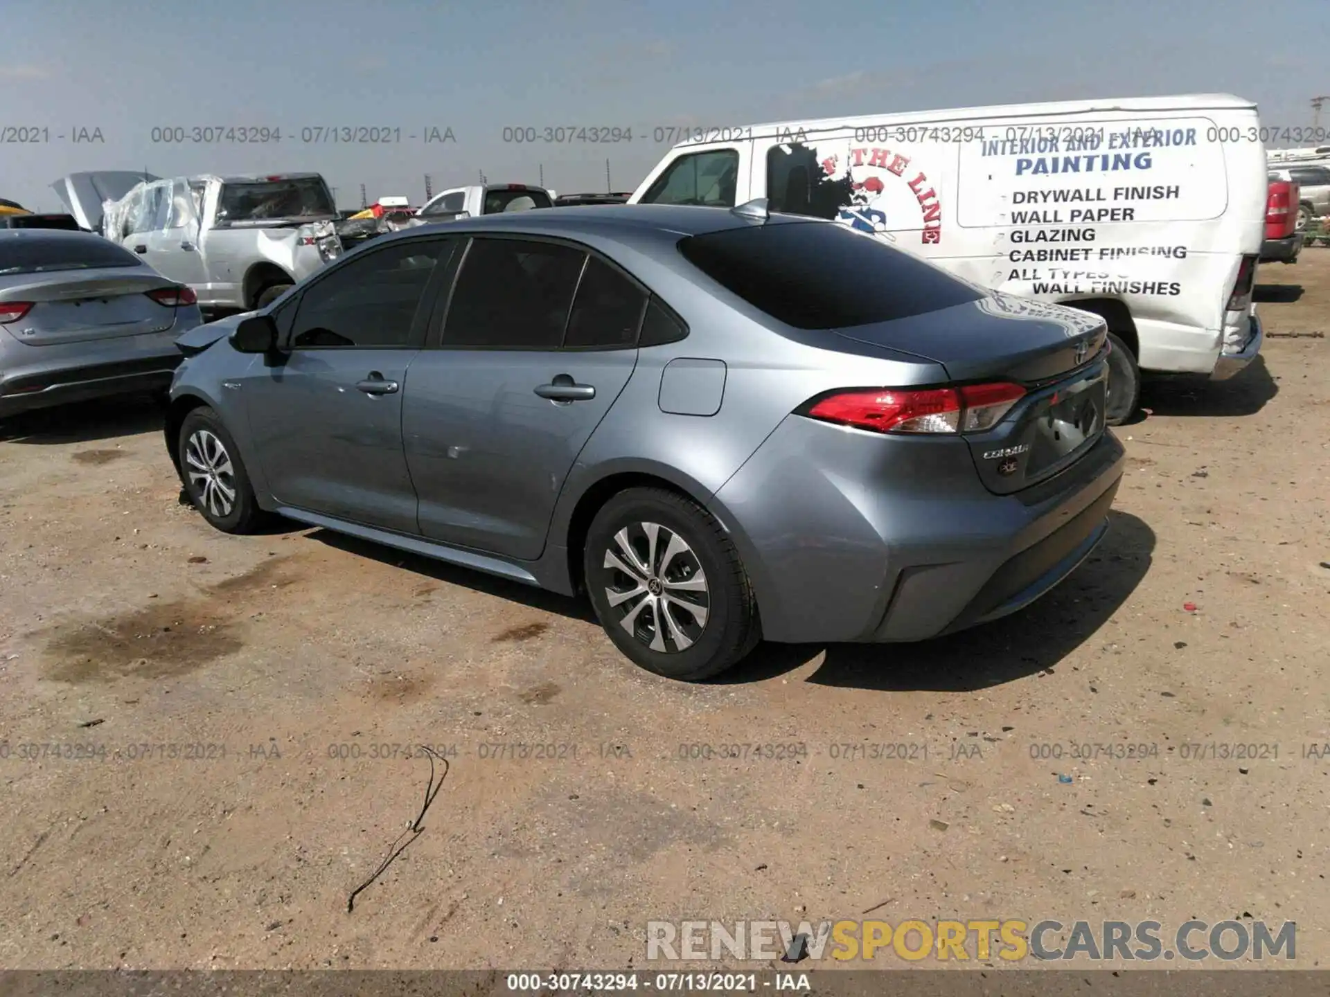
[[[540,557],[564,479],[633,372],[646,299],[583,246],[472,239],[442,343],[406,391],[426,537]]]

